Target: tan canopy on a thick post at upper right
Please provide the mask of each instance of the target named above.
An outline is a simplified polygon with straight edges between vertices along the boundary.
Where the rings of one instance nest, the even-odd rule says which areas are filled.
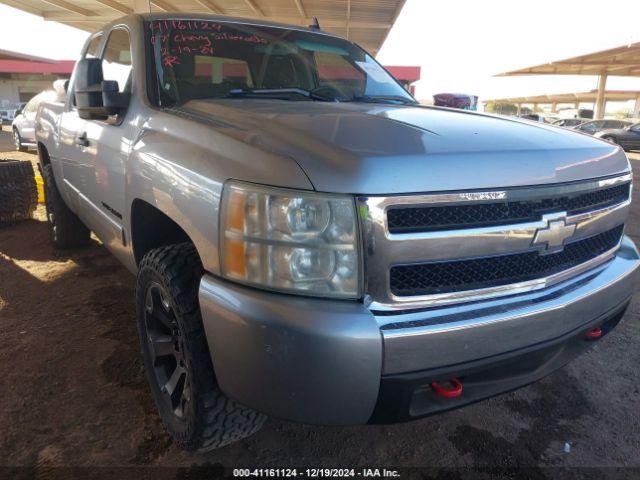
[[[597,75],[595,118],[603,118],[607,77],[609,75],[640,77],[640,42],[535,67],[513,70],[497,76],[516,75]]]

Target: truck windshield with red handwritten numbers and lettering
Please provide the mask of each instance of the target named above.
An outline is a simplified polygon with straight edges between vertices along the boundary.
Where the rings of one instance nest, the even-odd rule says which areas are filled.
[[[365,51],[329,35],[177,19],[147,22],[146,31],[162,106],[242,95],[415,102]]]

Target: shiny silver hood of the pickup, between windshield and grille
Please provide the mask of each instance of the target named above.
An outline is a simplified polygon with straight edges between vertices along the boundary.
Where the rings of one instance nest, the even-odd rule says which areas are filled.
[[[593,137],[442,108],[224,99],[193,100],[180,110],[294,159],[323,192],[490,189],[628,170],[619,148]]]

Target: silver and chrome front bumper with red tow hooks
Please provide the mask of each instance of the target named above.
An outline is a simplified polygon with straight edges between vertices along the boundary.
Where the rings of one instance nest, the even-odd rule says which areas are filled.
[[[640,275],[625,237],[608,263],[551,288],[423,311],[263,292],[205,275],[200,307],[217,381],[230,397],[305,423],[390,422],[512,390],[564,365],[584,333],[619,321]],[[442,401],[431,381],[462,377]]]

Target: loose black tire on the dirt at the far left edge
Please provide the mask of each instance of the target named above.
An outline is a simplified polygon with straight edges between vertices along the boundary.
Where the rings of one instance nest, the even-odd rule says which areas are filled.
[[[0,160],[0,225],[30,219],[37,206],[31,162]]]

